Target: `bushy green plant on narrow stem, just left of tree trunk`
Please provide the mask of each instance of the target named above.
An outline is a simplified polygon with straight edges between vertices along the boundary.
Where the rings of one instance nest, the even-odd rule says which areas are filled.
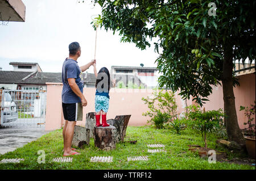
[[[200,133],[204,147],[207,149],[207,142],[210,133],[216,132],[224,124],[224,113],[220,110],[205,111],[200,110],[199,106],[189,106],[188,125],[196,132]]]

